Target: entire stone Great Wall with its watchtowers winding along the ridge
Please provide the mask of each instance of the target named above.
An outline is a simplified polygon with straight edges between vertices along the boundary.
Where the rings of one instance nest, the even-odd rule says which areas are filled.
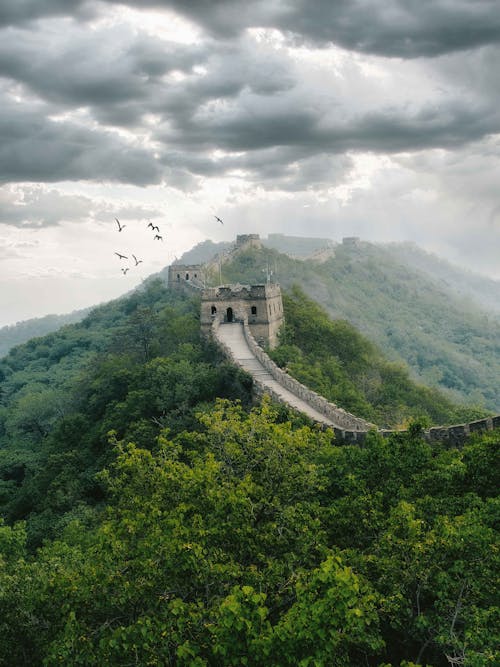
[[[346,241],[355,243],[357,239]],[[284,321],[279,285],[206,287],[207,273],[220,272],[224,261],[249,247],[260,247],[257,234],[238,236],[230,250],[204,266],[169,267],[170,289],[201,295],[202,334],[217,341],[224,354],[252,376],[257,395],[269,394],[274,400],[302,412],[322,426],[332,428],[339,440],[361,443],[372,430],[384,436],[401,432],[379,429],[375,424],[346,412],[288,375],[266,354],[263,346],[272,349],[277,344],[278,331]],[[423,431],[423,435],[428,441],[460,445],[473,433],[496,428],[500,428],[500,415],[467,424],[435,426]]]

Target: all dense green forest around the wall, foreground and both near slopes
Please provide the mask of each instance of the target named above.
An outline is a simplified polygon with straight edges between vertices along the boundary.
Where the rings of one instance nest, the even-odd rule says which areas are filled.
[[[1,361],[0,664],[498,662],[499,433],[426,443],[459,408],[316,308],[287,296],[277,360],[391,419],[420,400],[407,433],[255,405],[158,281]]]

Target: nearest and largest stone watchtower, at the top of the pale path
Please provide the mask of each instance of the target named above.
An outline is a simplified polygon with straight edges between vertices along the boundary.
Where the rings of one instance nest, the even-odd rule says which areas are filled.
[[[276,347],[284,321],[279,285],[221,285],[204,289],[201,296],[201,330],[210,334],[214,319],[248,322],[260,345]]]

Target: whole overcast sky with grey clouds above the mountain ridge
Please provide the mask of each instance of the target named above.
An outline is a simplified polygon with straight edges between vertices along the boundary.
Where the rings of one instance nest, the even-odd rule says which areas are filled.
[[[0,326],[239,233],[500,279],[500,2],[2,0]]]

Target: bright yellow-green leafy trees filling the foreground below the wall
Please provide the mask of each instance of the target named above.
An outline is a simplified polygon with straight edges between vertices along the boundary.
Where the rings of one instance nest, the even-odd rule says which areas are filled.
[[[0,528],[0,664],[497,664],[498,433],[357,448],[268,403],[198,419],[112,437],[91,525],[33,556]]]

